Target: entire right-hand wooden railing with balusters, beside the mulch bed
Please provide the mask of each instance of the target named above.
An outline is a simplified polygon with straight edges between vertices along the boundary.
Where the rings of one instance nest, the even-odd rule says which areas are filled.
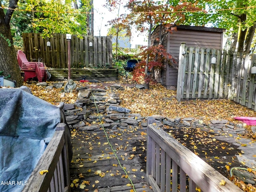
[[[146,162],[147,183],[154,192],[242,192],[154,122],[148,119]]]

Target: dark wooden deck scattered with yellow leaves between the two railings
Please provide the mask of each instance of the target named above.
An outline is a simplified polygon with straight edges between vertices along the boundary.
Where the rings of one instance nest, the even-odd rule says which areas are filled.
[[[146,185],[146,130],[107,129],[106,134],[102,128],[72,132],[71,191],[152,192]]]

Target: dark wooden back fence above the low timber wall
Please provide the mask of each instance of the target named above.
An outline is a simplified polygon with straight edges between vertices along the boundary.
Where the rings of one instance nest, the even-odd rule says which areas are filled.
[[[71,68],[100,68],[112,66],[111,36],[72,35],[70,40]],[[42,38],[37,33],[23,33],[24,53],[28,61],[44,62],[49,68],[68,68],[68,40],[66,34],[52,34]],[[50,46],[47,46],[50,42]],[[91,45],[90,46],[90,42]]]

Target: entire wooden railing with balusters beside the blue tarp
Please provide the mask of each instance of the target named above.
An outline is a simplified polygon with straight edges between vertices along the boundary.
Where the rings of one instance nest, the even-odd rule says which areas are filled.
[[[46,147],[36,168],[33,170],[28,185],[22,192],[69,192],[70,175],[68,163],[67,134],[64,123],[58,124],[53,138]],[[48,170],[40,174],[41,170]]]

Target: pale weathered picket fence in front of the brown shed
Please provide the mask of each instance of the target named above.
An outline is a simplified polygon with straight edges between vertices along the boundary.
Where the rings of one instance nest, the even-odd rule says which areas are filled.
[[[255,55],[181,44],[176,98],[228,98],[256,111],[255,62]]]

